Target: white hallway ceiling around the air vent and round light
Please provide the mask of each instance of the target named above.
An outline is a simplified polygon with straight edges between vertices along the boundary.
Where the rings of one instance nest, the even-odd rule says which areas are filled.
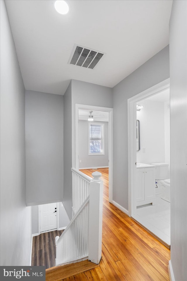
[[[5,0],[27,90],[64,95],[71,79],[114,87],[169,44],[172,0]],[[105,54],[92,69],[68,64],[75,44]]]

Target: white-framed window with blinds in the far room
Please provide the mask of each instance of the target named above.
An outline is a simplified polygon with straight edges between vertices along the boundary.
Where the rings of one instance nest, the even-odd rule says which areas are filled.
[[[89,124],[89,155],[104,155],[104,124]]]

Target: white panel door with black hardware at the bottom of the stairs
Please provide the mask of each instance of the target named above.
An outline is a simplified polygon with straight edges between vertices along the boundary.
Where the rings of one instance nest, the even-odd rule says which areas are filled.
[[[40,205],[40,232],[57,229],[57,203]]]

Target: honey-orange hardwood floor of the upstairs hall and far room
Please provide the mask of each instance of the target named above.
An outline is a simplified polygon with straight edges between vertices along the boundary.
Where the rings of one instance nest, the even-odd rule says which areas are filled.
[[[62,280],[169,280],[170,250],[108,202],[108,169],[97,171],[104,183],[102,258],[98,267]],[[81,172],[91,176],[94,170]]]

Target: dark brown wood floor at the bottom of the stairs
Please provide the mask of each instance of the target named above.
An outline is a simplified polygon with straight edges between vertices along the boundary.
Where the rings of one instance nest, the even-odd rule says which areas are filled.
[[[34,236],[32,240],[31,265],[44,265],[46,268],[55,266],[56,245],[55,237],[63,233],[63,230],[54,230]]]

